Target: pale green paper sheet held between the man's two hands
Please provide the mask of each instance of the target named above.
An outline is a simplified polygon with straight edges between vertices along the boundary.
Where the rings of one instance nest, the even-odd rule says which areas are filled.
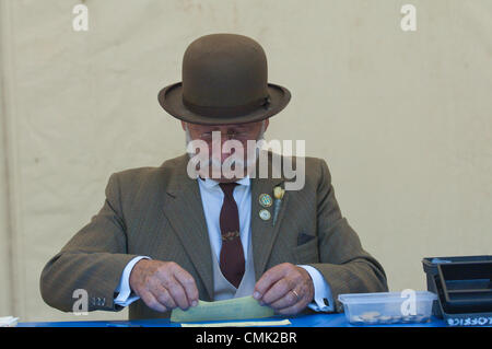
[[[261,318],[273,316],[273,310],[261,306],[253,296],[243,296],[225,301],[198,301],[197,306],[187,311],[175,309],[171,314],[174,323],[196,323],[227,319]]]

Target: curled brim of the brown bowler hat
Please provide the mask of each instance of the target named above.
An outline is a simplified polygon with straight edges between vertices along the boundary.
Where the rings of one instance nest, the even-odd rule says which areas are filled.
[[[189,110],[183,103],[183,83],[171,84],[159,92],[159,104],[175,118],[186,123],[200,125],[230,125],[261,121],[282,110],[291,100],[288,89],[269,83],[268,93],[270,103],[268,107],[261,106],[251,113],[235,117],[210,117]]]

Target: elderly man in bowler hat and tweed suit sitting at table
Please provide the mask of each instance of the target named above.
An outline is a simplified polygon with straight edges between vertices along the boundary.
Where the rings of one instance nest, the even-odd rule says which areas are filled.
[[[323,160],[282,158],[302,163],[305,175],[301,189],[285,190],[292,178],[259,176],[259,152],[237,151],[262,139],[290,97],[267,82],[255,40],[212,34],[191,43],[183,82],[159,94],[181,120],[188,153],[110,176],[101,211],[44,268],[44,300],[70,312],[82,289],[89,311],[129,305],[130,318],[151,318],[199,299],[245,295],[280,314],[341,311],[340,293],[386,291],[385,272],[342,217]],[[226,141],[236,149],[213,151]],[[200,146],[208,162],[190,166]],[[230,158],[232,175],[223,166]],[[216,167],[224,172],[212,176]]]

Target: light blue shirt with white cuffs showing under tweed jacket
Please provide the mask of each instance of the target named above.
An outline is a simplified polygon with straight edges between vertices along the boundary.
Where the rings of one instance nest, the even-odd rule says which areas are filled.
[[[222,209],[222,202],[224,200],[224,193],[222,191],[219,183],[207,178],[204,181],[197,179],[200,188],[201,202],[203,206],[203,213],[207,221],[207,228],[209,232],[210,247],[213,256],[220,261],[220,251],[222,247],[221,228],[220,228],[220,213]],[[251,190],[249,177],[243,178],[236,182],[238,186],[234,188],[234,200],[236,201],[239,213],[239,235],[243,244],[244,256],[248,256],[248,241],[251,234]],[[131,294],[129,278],[133,266],[142,258],[149,258],[144,256],[136,257],[125,268],[120,283],[116,289],[119,292],[115,299],[115,303],[121,306],[127,306],[130,303],[139,299],[139,296]],[[326,282],[323,275],[311,266],[300,266],[304,268],[313,279],[315,296],[314,302],[308,306],[314,311],[331,312],[333,311],[333,300],[331,296],[331,290]],[[328,305],[327,305],[328,303]]]

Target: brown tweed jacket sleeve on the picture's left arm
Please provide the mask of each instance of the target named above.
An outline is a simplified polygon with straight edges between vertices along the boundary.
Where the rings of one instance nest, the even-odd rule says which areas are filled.
[[[115,289],[125,266],[136,255],[127,254],[127,235],[120,206],[117,174],[109,177],[103,208],[52,257],[40,276],[40,293],[50,306],[71,312],[75,301],[86,311],[118,311]],[[80,304],[80,303],[79,303]]]

